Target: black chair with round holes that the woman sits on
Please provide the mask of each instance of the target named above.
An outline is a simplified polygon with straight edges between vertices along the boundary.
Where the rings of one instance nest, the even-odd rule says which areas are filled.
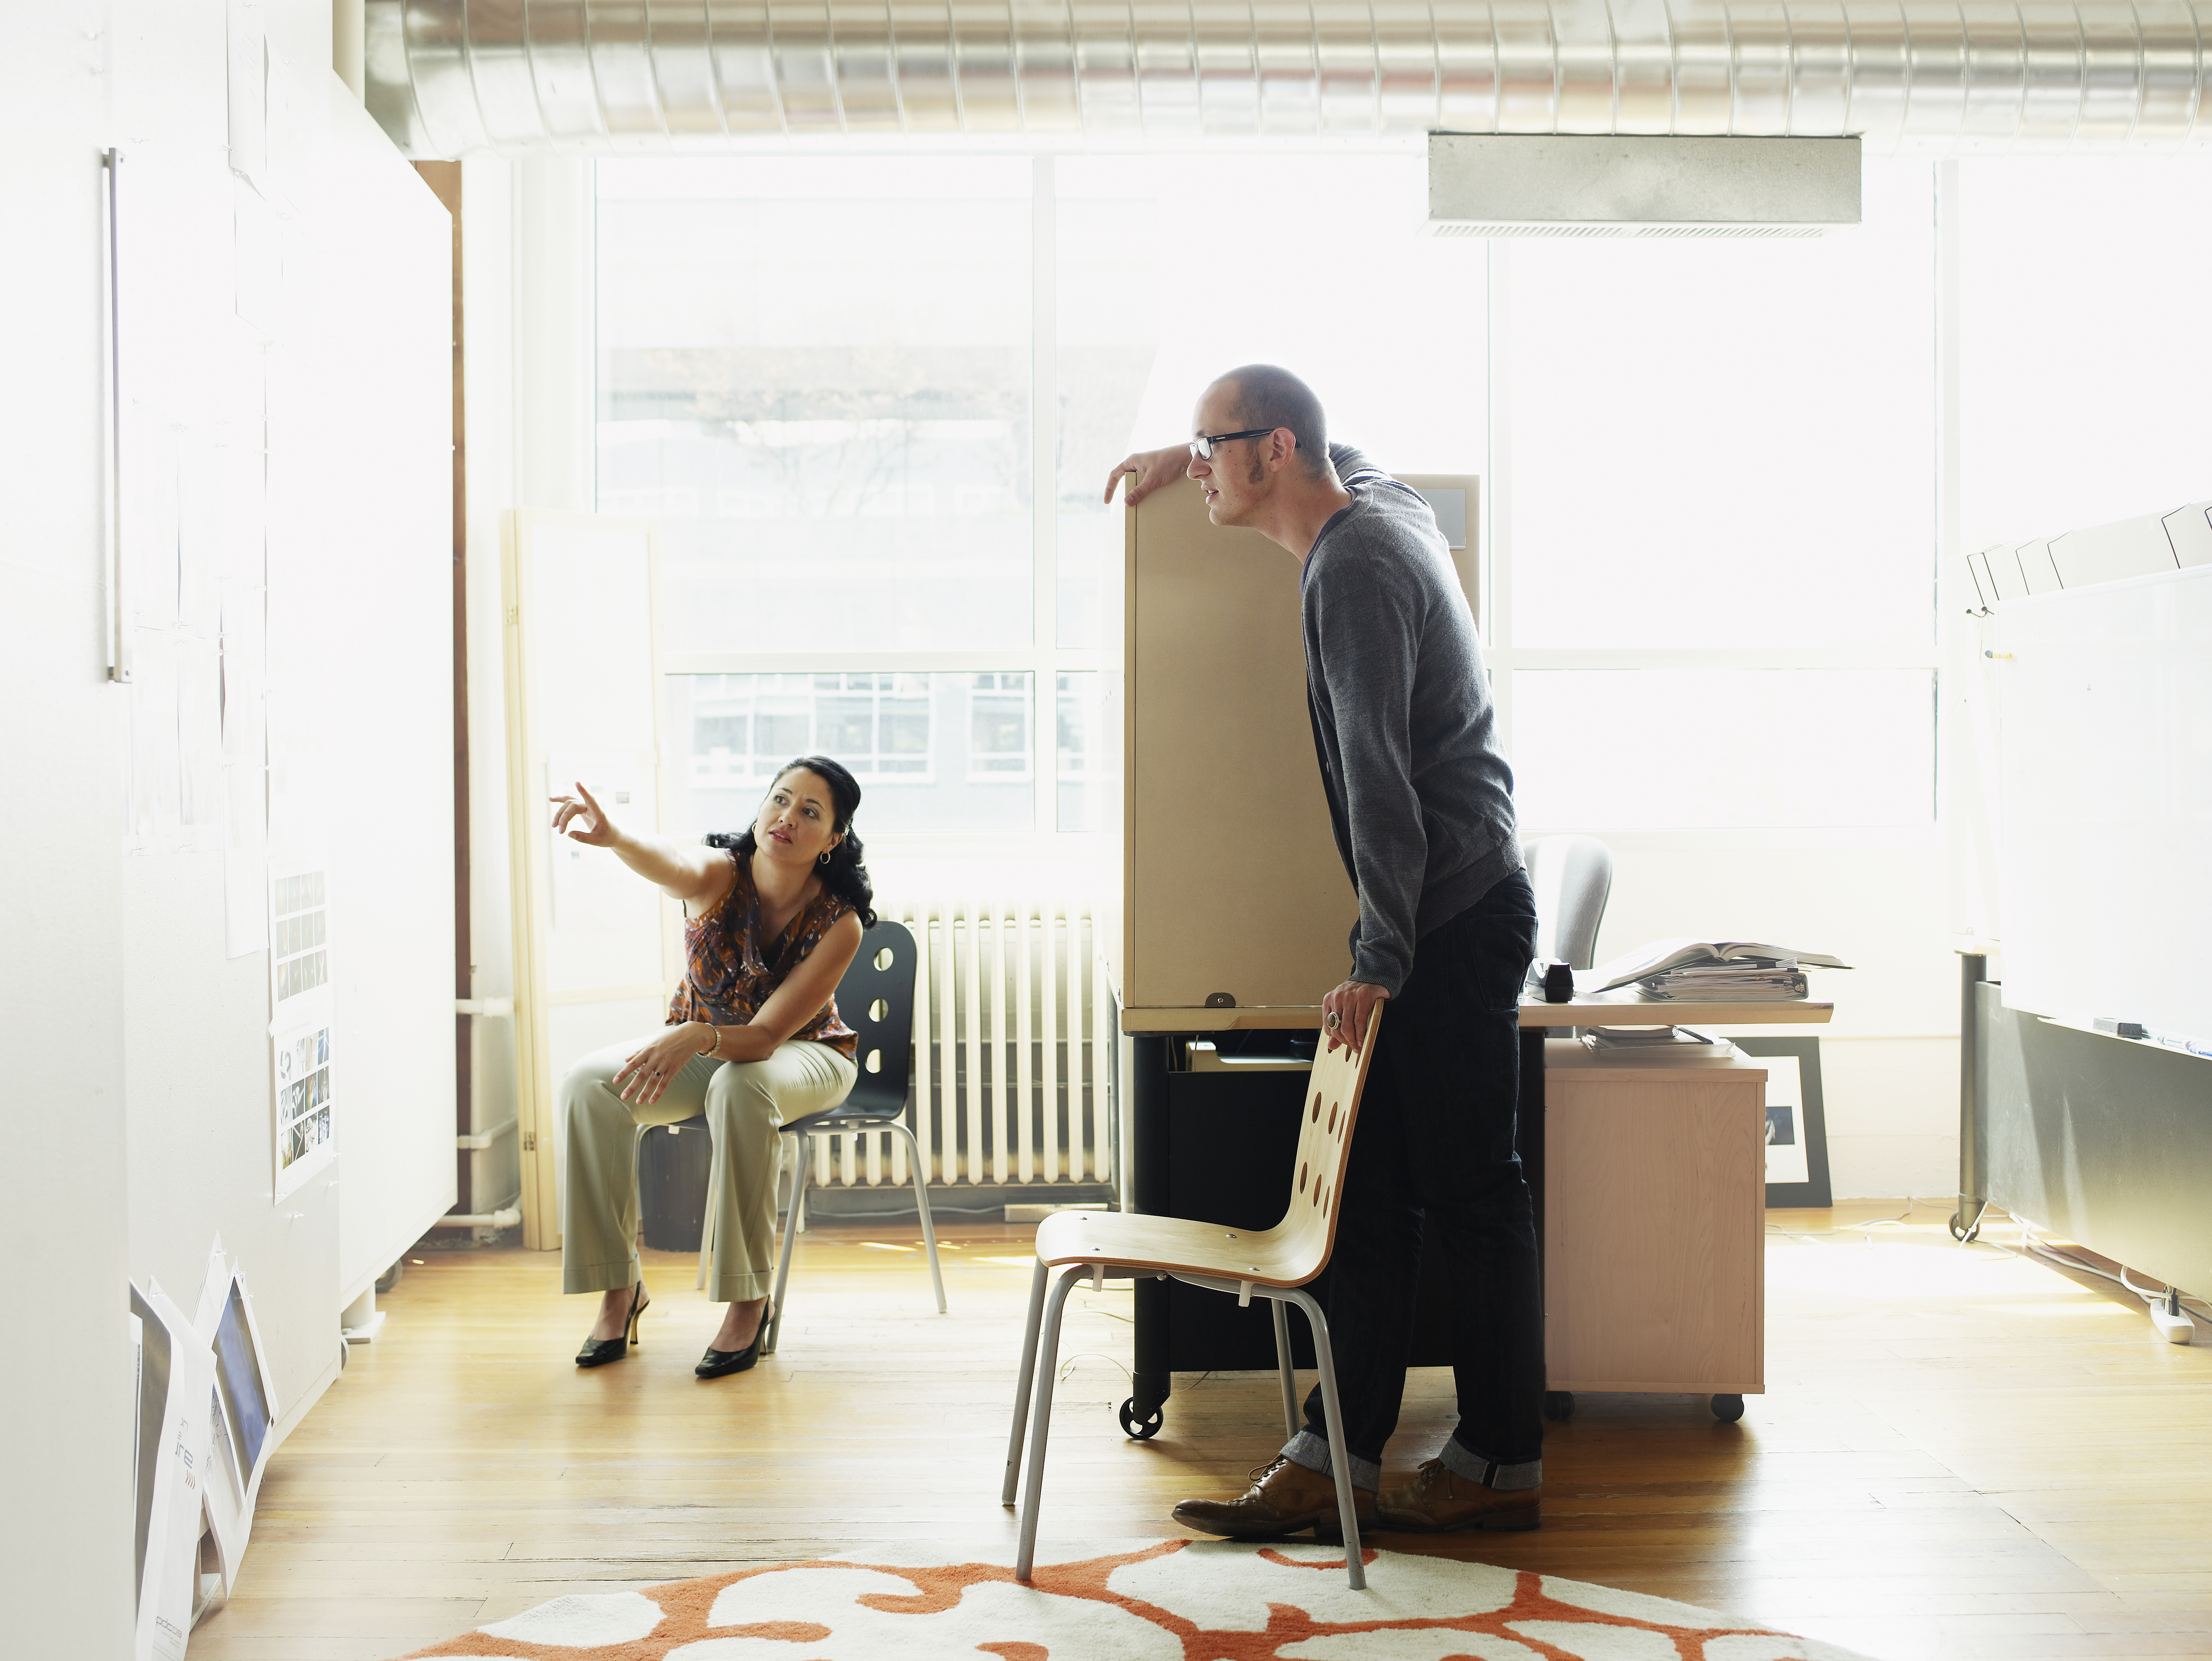
[[[896,1130],[907,1139],[907,1170],[914,1172],[914,1205],[922,1214],[922,1247],[929,1252],[929,1283],[945,1314],[945,1274],[938,1270],[938,1232],[929,1223],[929,1161],[907,1128],[907,1075],[914,1042],[914,962],[916,944],[907,924],[883,920],[860,936],[860,951],[836,986],[836,1009],[860,1035],[860,1077],[838,1106],[792,1119],[783,1135],[799,1143],[799,1170],[792,1174],[792,1203],[783,1214],[783,1250],[776,1254],[776,1296],[770,1303],[768,1343],[763,1356],[776,1354],[783,1336],[783,1283],[792,1274],[792,1243],[805,1221],[807,1179],[814,1174],[814,1137],[849,1137],[869,1130]]]

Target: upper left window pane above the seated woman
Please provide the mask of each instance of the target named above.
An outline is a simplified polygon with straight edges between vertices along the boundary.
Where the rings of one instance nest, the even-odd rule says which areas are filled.
[[[668,650],[1026,646],[1029,161],[599,164],[599,511]],[[834,595],[834,602],[827,597]]]

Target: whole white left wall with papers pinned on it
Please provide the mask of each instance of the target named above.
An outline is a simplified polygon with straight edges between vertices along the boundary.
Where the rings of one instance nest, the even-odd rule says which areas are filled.
[[[31,1272],[22,1334],[40,1360],[0,1387],[22,1431],[0,1561],[11,1652],[104,1661],[126,1654],[131,1621],[126,1276],[150,1274],[188,1305],[221,1234],[290,1424],[338,1367],[347,1274],[374,1276],[451,1194],[447,221],[332,77],[323,0],[18,11],[0,55],[0,719],[13,781],[0,805],[0,1239]],[[265,157],[259,139],[234,148],[234,82],[263,84],[230,73],[248,24],[265,31]],[[341,1115],[341,1159],[281,1203],[268,960],[252,940],[232,958],[226,918],[232,843],[252,854],[241,880],[248,913],[261,911],[252,756],[228,779],[219,765],[223,790],[190,812],[139,816],[126,836],[128,770],[175,779],[181,725],[217,723],[219,706],[212,683],[157,657],[128,688],[106,681],[104,146],[128,157],[126,480],[142,500],[197,502],[175,509],[166,577],[232,579],[232,710],[254,694],[234,670],[250,659],[241,619],[261,610],[265,484],[270,613],[307,619],[290,659],[310,666],[272,690],[288,719],[274,761],[327,781],[321,801],[343,809],[321,816],[319,840],[338,885],[352,1119]],[[217,473],[252,489],[215,511]],[[135,546],[159,551],[161,537]],[[148,571],[159,595],[161,560],[137,575]],[[204,595],[190,606],[208,615]],[[294,721],[303,710],[314,719]],[[153,765],[164,743],[177,748]],[[407,836],[409,814],[427,838]],[[170,827],[144,834],[155,821]]]

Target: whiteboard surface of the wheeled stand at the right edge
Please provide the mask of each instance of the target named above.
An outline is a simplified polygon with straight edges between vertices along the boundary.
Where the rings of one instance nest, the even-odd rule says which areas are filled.
[[[2212,566],[1995,606],[2004,1004],[2212,1040]]]

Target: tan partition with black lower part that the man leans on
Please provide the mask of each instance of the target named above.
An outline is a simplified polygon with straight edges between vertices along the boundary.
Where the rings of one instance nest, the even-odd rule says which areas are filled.
[[[1405,482],[1436,511],[1473,610],[1475,480]],[[1296,1062],[1192,1070],[1188,1044],[1245,1033],[1287,1048],[1321,1028],[1321,997],[1352,962],[1358,902],[1314,759],[1298,562],[1256,531],[1212,524],[1188,480],[1128,511],[1124,560],[1119,650],[1106,655],[1119,668],[1121,812],[1102,874],[1102,955],[1135,1037],[1130,1194],[1139,1212],[1270,1228],[1303,1073]],[[1540,1075],[1540,1035],[1535,1048]],[[1524,1124],[1542,1137],[1540,1112]],[[1292,1327],[1298,1365],[1312,1365],[1310,1336]],[[1413,1365],[1447,1360],[1442,1285],[1425,1274]],[[1263,1307],[1137,1283],[1130,1433],[1159,1429],[1175,1371],[1248,1367],[1274,1367]]]

